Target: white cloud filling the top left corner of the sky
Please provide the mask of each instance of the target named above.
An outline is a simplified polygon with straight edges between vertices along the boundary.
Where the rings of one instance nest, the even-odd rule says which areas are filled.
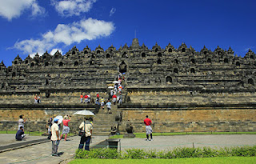
[[[38,6],[37,0],[0,0],[0,16],[8,21],[20,17],[25,10],[31,10],[32,16],[45,13],[45,9]]]

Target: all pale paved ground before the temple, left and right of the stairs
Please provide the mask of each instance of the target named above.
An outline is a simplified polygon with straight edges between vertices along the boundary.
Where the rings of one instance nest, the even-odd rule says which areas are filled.
[[[10,135],[13,138],[14,134]],[[0,134],[3,140],[5,139]],[[6,139],[8,136],[6,136]],[[33,139],[34,137],[28,137]],[[38,137],[37,137],[38,138]],[[41,137],[42,138],[42,137]],[[45,137],[43,137],[45,138]],[[99,142],[105,141],[107,136],[94,136],[91,146],[98,145]],[[80,137],[74,136],[69,138],[70,141],[61,141],[58,152],[63,152],[61,157],[52,157],[51,154],[51,142],[44,142],[34,146],[27,146],[17,150],[10,150],[0,153],[0,163],[60,163],[65,159],[69,159],[74,156],[75,150],[78,149]],[[1,144],[2,144],[1,142]],[[225,147],[225,146],[255,146],[256,134],[219,134],[219,135],[175,135],[175,136],[156,136],[154,141],[146,141],[145,138],[123,138],[121,139],[122,150],[130,148],[140,148],[145,150],[171,150],[174,147]],[[2,145],[0,145],[2,146]],[[120,146],[120,145],[118,145]],[[119,147],[118,147],[119,150]],[[65,162],[62,162],[65,163]]]

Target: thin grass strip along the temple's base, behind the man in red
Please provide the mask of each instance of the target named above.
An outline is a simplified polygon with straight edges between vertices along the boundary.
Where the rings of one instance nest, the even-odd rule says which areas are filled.
[[[145,138],[146,133],[134,133],[136,138]],[[170,136],[186,134],[256,134],[256,132],[176,132],[176,133],[153,133],[153,136]],[[123,135],[114,135],[110,138],[123,138]]]

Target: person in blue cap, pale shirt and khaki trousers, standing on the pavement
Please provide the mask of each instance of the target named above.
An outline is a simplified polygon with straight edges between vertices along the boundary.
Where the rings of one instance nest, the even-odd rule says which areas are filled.
[[[58,118],[54,118],[54,124],[51,126],[51,146],[52,156],[59,157],[58,155],[58,144],[60,142],[60,132],[58,127]]]

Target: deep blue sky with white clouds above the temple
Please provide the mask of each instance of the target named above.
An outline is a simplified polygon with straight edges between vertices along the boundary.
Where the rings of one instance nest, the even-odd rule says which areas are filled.
[[[73,46],[106,50],[131,45],[256,52],[254,0],[0,0],[0,61],[29,54],[66,54]]]

